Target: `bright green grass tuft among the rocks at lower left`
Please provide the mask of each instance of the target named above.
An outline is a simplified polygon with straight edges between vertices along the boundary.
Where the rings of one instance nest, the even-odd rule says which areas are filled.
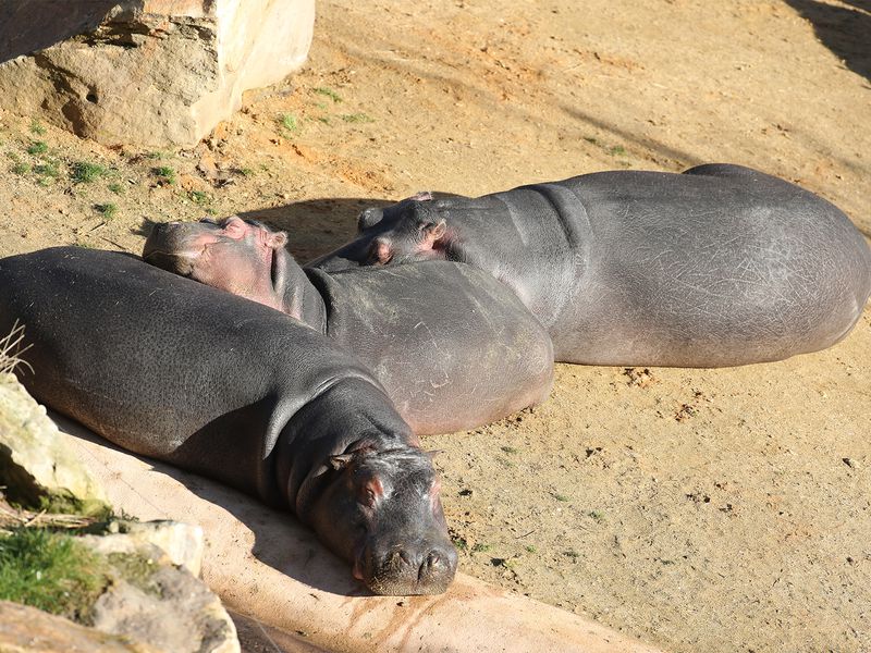
[[[0,537],[0,599],[88,624],[107,586],[101,558],[69,535],[17,529]]]

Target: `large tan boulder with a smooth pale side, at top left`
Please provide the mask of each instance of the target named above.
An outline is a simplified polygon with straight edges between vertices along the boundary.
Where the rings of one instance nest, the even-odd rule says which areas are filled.
[[[315,0],[4,0],[0,104],[107,145],[193,146],[297,70]]]

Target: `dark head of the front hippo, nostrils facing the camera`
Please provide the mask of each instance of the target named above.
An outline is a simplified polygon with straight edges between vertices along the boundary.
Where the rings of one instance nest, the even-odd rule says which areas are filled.
[[[376,594],[439,594],[456,572],[440,483],[417,447],[332,456],[333,480],[306,510],[320,538]]]

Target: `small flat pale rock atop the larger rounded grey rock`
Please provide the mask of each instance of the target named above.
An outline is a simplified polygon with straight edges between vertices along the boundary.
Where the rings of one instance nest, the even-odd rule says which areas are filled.
[[[199,576],[205,543],[203,529],[180,521],[126,521],[109,523],[105,535],[83,535],[81,541],[97,553],[138,554],[159,564],[184,567]],[[157,553],[152,547],[157,547]]]

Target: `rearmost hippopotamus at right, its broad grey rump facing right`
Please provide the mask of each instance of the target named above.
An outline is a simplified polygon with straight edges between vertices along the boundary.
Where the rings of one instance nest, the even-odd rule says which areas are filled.
[[[842,340],[871,292],[847,217],[731,164],[616,171],[477,198],[420,194],[358,218],[358,236],[307,267],[333,272],[463,261],[507,284],[557,360],[721,367]]]

